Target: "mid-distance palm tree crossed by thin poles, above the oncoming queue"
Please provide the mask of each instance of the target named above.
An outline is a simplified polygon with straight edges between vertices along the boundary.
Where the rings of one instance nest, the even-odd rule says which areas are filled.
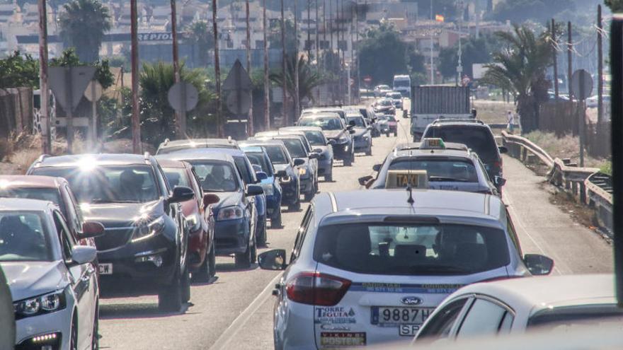
[[[287,93],[290,96],[295,95],[295,57],[289,57],[287,62],[287,71],[285,76],[285,85],[287,86]],[[320,86],[324,82],[324,78],[319,74],[318,71],[315,71],[311,68],[311,64],[304,57],[299,57],[299,100],[303,100],[304,98],[308,98],[311,101],[314,101],[314,94],[311,91]],[[278,73],[270,74],[270,81],[273,83],[282,86],[283,74],[282,71]]]

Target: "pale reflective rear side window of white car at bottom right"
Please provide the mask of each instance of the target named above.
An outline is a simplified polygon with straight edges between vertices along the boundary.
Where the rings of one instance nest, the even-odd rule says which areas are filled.
[[[476,299],[463,320],[457,338],[497,334],[505,314],[506,309],[500,305]]]

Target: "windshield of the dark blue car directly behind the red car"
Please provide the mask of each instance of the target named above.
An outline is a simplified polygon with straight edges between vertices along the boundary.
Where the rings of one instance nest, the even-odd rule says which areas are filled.
[[[188,161],[193,165],[205,192],[234,192],[238,190],[238,177],[232,164],[221,161]]]

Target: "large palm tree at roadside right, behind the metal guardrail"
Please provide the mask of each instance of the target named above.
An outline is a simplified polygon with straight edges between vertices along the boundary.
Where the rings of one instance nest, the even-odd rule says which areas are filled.
[[[513,93],[525,133],[539,127],[539,107],[547,100],[551,85],[545,77],[552,64],[549,35],[547,31],[536,35],[525,25],[515,25],[512,33],[496,33],[505,48],[493,53],[495,63],[486,65],[483,77],[485,83]]]

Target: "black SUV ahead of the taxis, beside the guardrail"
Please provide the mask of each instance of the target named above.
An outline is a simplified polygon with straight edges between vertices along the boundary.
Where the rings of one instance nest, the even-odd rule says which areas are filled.
[[[464,144],[476,152],[489,179],[502,177],[502,156],[508,150],[498,146],[491,128],[479,119],[437,119],[428,124],[422,138],[440,138],[444,142]],[[501,186],[499,186],[501,187]],[[500,189],[500,188],[498,188]]]

